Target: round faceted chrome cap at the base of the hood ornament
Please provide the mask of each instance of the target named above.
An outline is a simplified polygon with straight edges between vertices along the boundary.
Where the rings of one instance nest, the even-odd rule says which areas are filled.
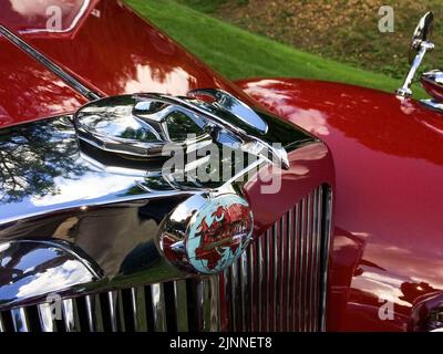
[[[212,143],[203,117],[177,104],[166,104],[155,94],[91,102],[75,113],[74,124],[79,137],[94,147],[144,158]]]

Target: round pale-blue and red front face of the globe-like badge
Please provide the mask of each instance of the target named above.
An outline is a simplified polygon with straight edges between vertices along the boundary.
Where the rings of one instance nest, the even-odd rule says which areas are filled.
[[[253,235],[254,218],[246,200],[235,195],[215,198],[195,216],[186,251],[200,273],[218,273],[234,263]]]

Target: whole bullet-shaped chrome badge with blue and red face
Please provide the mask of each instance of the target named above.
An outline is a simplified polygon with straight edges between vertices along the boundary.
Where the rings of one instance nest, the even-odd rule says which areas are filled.
[[[194,196],[167,219],[159,246],[179,269],[214,274],[241,256],[253,237],[253,227],[254,216],[244,198],[235,194]]]

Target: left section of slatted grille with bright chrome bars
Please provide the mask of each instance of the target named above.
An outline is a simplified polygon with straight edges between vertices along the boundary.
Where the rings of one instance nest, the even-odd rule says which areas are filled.
[[[217,331],[218,279],[188,279],[2,311],[0,332]]]

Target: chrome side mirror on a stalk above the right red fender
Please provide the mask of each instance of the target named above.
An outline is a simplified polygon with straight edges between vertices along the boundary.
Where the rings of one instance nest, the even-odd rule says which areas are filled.
[[[434,14],[432,12],[426,12],[420,19],[419,24],[415,28],[409,51],[409,62],[411,64],[411,69],[404,79],[403,85],[396,90],[396,95],[399,97],[411,97],[411,84],[418,69],[420,67],[420,64],[422,63],[424,54],[434,49],[434,44],[429,41],[432,33],[433,22]]]

